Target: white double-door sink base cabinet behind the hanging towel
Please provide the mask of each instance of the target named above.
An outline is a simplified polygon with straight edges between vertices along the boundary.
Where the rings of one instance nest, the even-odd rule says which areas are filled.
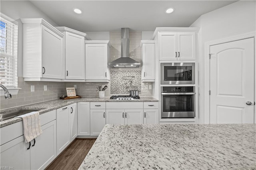
[[[26,170],[46,168],[56,158],[55,119],[56,110],[40,115],[43,133],[35,138],[35,143],[31,141],[30,148],[24,140],[22,121],[0,128],[1,166]],[[6,140],[6,134],[9,134],[11,140]]]

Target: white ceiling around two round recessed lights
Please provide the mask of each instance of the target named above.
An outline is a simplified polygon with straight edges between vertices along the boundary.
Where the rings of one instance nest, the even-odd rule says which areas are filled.
[[[130,28],[154,31],[156,27],[189,27],[202,14],[236,1],[231,0],[31,0],[59,26],[81,32]],[[166,14],[166,8],[175,8]],[[75,14],[80,8],[82,14]]]

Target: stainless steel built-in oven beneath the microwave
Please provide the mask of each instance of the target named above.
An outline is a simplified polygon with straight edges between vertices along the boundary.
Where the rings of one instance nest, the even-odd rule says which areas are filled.
[[[195,117],[195,87],[161,87],[161,118]]]

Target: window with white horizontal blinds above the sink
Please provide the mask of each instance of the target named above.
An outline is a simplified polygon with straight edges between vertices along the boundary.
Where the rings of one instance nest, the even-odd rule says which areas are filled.
[[[15,22],[15,21],[14,21]],[[18,25],[1,14],[0,18],[0,82],[17,87]]]

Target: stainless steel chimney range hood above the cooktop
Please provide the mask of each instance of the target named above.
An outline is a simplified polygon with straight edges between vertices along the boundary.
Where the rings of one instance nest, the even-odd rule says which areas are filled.
[[[110,67],[140,67],[140,63],[129,57],[129,28],[121,28],[121,57],[108,63]]]

